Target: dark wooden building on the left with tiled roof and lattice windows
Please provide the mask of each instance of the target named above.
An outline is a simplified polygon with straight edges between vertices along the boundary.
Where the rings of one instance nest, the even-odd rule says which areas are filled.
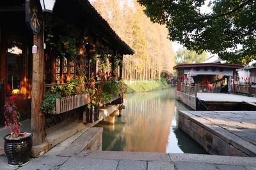
[[[49,2],[50,10],[44,6]],[[122,78],[122,57],[134,53],[89,1],[41,3],[0,2],[0,122],[4,120],[4,102],[18,96],[15,103],[22,119],[31,118],[33,145],[45,140],[45,114],[40,105],[47,88],[76,78],[79,69],[90,78],[100,69],[97,60],[101,55],[107,55],[109,62],[118,59],[118,73],[109,71]]]

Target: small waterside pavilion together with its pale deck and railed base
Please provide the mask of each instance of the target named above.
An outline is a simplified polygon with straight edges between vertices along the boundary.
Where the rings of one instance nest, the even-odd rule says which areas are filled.
[[[240,68],[239,64],[179,64],[173,67],[178,73],[175,96],[193,110],[255,110],[255,97],[237,95],[243,89],[237,84]]]

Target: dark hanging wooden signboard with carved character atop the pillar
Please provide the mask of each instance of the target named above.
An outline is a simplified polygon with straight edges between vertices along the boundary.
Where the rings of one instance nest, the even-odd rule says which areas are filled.
[[[26,0],[26,23],[34,34],[42,27],[42,7],[39,0]]]

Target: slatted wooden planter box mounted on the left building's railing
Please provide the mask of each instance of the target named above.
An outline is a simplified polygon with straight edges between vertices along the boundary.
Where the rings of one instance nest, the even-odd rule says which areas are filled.
[[[64,113],[84,106],[88,103],[90,103],[89,94],[77,94],[74,96],[62,97],[61,99],[56,99],[55,108],[51,114]]]

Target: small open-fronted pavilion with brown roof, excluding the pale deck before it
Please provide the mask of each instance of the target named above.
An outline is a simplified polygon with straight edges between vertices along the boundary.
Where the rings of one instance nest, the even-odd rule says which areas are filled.
[[[199,63],[199,64],[179,64],[173,69],[177,69],[177,90],[180,91],[182,84],[185,84],[188,73],[191,73],[197,92],[208,92],[207,85],[211,84],[211,92],[221,92],[221,82],[227,79],[227,84],[234,86],[236,69],[242,68],[240,64],[221,63]],[[232,81],[233,80],[233,81]],[[232,81],[232,82],[231,82]],[[231,91],[232,93],[234,92]]]

